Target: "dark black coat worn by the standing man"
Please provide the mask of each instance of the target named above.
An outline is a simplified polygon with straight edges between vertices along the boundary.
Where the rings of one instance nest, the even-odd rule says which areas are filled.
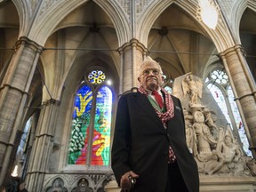
[[[125,172],[140,175],[134,191],[164,192],[168,179],[168,147],[171,144],[189,192],[199,191],[197,164],[186,144],[180,100],[172,96],[174,116],[164,128],[146,95],[124,94],[118,101],[111,165],[116,181]]]

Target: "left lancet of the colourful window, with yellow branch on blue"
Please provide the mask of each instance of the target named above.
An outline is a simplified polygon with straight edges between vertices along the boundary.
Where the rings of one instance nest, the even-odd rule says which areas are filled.
[[[76,92],[75,109],[72,120],[68,164],[85,164],[88,147],[89,124],[92,110],[92,90],[84,85]]]

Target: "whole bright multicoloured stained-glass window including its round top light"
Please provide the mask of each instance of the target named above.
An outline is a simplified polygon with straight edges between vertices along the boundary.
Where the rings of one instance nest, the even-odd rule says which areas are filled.
[[[106,79],[94,69],[77,89],[68,164],[109,165],[113,92]]]

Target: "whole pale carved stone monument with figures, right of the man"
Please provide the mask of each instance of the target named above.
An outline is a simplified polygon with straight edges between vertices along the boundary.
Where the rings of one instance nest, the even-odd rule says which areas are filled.
[[[196,159],[200,174],[255,176],[255,160],[244,156],[227,120],[220,121],[223,114],[211,106],[217,103],[210,98],[203,81],[190,73],[182,77],[175,79],[173,95],[182,102],[188,149]]]

